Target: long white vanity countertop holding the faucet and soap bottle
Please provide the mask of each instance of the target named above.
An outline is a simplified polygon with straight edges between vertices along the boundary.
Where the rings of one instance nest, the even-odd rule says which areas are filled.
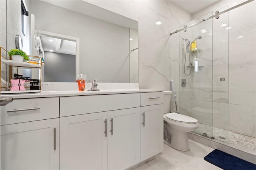
[[[13,99],[40,98],[40,97],[65,97],[65,96],[83,96],[83,95],[110,95],[125,93],[147,93],[161,92],[164,90],[151,89],[117,89],[100,91],[41,91],[38,93],[4,94],[1,97],[12,97]]]

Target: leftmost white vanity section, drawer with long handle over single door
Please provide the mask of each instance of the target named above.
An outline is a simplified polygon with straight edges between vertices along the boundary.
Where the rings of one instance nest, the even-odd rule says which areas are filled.
[[[59,132],[58,97],[1,106],[1,170],[58,170]]]

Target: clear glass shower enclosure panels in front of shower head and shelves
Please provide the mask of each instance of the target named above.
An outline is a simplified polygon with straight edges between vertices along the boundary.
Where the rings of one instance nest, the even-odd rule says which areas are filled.
[[[200,124],[193,132],[228,142],[228,13],[197,24],[214,14],[209,12],[170,31],[184,28],[170,36],[170,78],[175,81],[180,114]]]

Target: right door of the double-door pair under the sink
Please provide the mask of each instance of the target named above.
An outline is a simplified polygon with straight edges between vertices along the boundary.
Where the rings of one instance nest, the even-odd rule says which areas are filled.
[[[140,162],[140,108],[108,112],[108,169]]]

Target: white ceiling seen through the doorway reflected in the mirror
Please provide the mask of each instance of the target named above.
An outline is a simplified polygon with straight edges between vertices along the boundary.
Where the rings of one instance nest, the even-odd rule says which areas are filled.
[[[44,51],[76,55],[76,42],[40,35]],[[53,40],[53,41],[49,41]]]

